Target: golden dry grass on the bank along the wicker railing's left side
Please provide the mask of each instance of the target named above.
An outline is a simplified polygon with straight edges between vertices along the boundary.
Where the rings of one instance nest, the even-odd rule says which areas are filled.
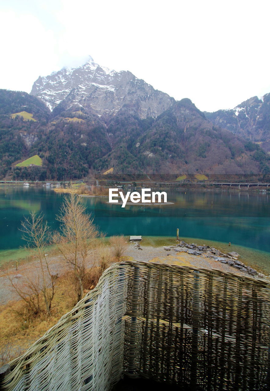
[[[97,258],[98,264],[88,269],[84,276],[84,294],[97,285],[101,274],[112,261],[109,249],[104,247],[97,250]],[[75,284],[76,278],[72,271],[58,278],[51,316],[47,316],[45,311],[38,317],[20,316],[20,313],[25,311],[23,300],[10,301],[7,305],[0,306],[0,365],[24,353],[32,343],[55,325],[61,316],[74,307],[77,303]]]

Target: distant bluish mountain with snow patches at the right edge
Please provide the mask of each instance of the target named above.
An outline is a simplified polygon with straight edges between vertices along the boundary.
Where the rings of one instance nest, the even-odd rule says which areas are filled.
[[[261,99],[252,97],[231,110],[204,113],[215,125],[256,142],[270,152],[270,93]]]

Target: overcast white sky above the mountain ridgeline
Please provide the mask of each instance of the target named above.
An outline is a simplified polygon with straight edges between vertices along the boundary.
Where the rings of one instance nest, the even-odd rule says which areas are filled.
[[[269,1],[0,0],[0,88],[91,55],[200,110],[270,92]]]

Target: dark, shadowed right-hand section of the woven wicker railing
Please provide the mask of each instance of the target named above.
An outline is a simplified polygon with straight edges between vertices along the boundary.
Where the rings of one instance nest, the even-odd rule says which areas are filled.
[[[268,283],[168,265],[140,265],[139,273],[141,341],[132,344],[132,321],[126,319],[127,374],[191,389],[267,388]],[[131,292],[128,297],[131,315]],[[132,353],[136,371],[129,368]]]

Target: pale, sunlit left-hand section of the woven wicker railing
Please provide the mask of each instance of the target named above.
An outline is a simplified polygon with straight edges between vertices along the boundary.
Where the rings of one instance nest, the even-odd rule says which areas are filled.
[[[124,268],[108,269],[91,294],[12,361],[4,390],[104,391],[122,375],[127,284]],[[115,359],[113,359],[115,357]]]

